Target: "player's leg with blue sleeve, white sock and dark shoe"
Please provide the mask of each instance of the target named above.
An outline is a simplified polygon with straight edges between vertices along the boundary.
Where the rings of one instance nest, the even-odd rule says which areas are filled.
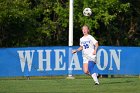
[[[96,63],[94,63],[93,61],[89,61],[88,63],[88,71],[91,74],[91,77],[93,78],[95,85],[99,85],[99,81],[97,78],[97,73],[94,72],[94,66],[96,65]]]

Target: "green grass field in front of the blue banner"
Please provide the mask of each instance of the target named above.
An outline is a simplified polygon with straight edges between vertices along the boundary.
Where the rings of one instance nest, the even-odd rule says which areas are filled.
[[[100,85],[92,79],[0,79],[0,93],[140,93],[140,79],[100,78]]]

